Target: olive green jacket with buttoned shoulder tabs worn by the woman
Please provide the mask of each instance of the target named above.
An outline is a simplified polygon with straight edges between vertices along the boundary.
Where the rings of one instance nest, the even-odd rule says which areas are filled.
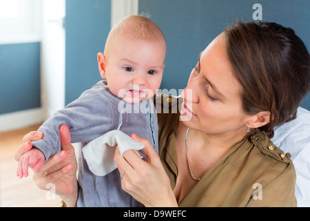
[[[159,156],[172,189],[178,176],[175,130],[180,114],[175,97],[156,95]],[[168,113],[169,112],[169,113]],[[174,112],[174,113],[171,113]],[[207,171],[179,206],[296,206],[296,173],[283,153],[256,130],[234,145]]]

